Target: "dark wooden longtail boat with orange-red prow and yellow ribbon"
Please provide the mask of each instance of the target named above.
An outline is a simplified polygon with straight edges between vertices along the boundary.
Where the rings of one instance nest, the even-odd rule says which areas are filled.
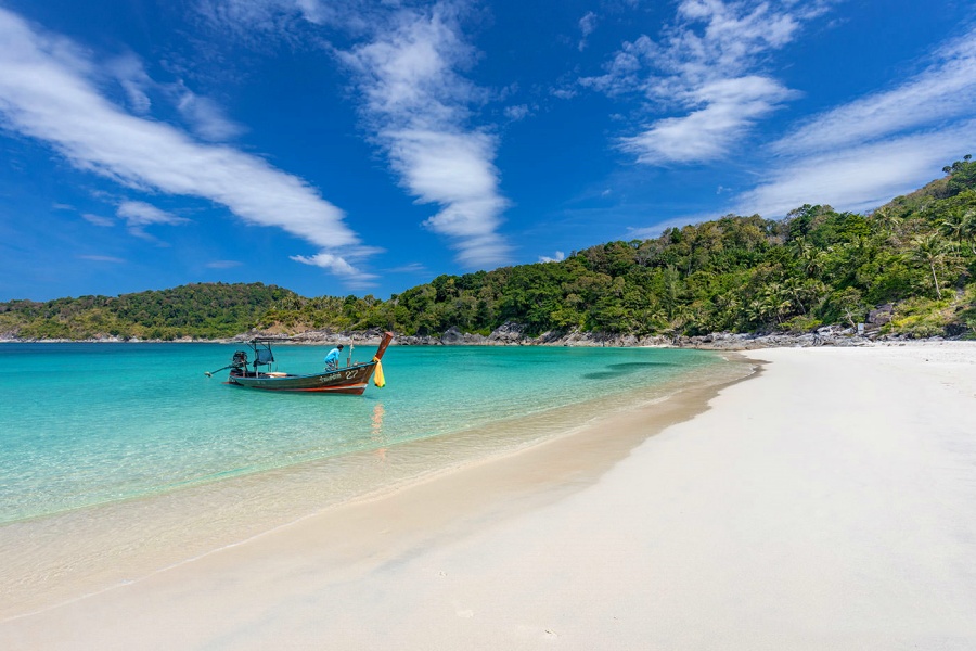
[[[262,388],[266,391],[296,391],[309,393],[334,393],[334,394],[352,394],[361,395],[365,391],[367,384],[373,373],[380,367],[380,360],[386,353],[386,347],[393,341],[393,333],[383,334],[383,341],[380,342],[380,348],[372,360],[367,362],[350,363],[346,367],[336,369],[326,369],[319,373],[308,375],[293,375],[291,373],[271,372],[270,370],[261,371],[260,367],[268,366],[274,361],[274,355],[271,353],[271,344],[285,340],[273,337],[257,337],[247,342],[254,354],[253,360],[249,362],[246,350],[237,350],[234,353],[233,360],[230,363],[230,374],[226,384],[235,384],[237,386],[246,386],[247,388]],[[222,370],[222,369],[221,369]],[[217,371],[214,371],[217,372]],[[209,373],[207,373],[209,375]]]

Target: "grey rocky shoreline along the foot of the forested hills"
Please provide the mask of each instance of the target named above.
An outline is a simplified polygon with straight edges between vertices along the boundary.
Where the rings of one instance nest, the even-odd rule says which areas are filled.
[[[265,333],[253,331],[230,339],[203,340],[183,337],[172,341],[121,339],[105,336],[89,340],[31,340],[0,336],[0,343],[239,343]],[[311,330],[291,336],[282,335],[281,343],[297,345],[330,345],[352,343],[354,345],[378,345],[383,336],[380,329],[368,331],[334,332]],[[701,336],[667,336],[613,334],[601,332],[545,332],[529,336],[518,323],[506,322],[489,335],[461,332],[450,328],[440,335],[398,335],[395,346],[613,346],[613,347],[667,347],[697,348],[706,350],[754,350],[759,348],[806,348],[814,346],[871,346],[875,343],[904,343],[921,341],[956,341],[954,337],[913,339],[898,334],[882,334],[879,329],[859,333],[853,328],[826,326],[813,332],[804,333],[733,333],[714,332]]]

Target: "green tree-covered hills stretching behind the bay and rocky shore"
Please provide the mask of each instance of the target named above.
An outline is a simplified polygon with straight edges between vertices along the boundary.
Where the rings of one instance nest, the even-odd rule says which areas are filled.
[[[259,328],[487,334],[705,334],[852,326],[882,307],[886,331],[976,333],[976,163],[870,215],[806,205],[783,220],[728,216],[540,263],[440,276],[394,295],[306,298],[262,284],[193,284],[116,298],[0,303],[0,336],[171,340]],[[883,320],[887,320],[887,317]]]

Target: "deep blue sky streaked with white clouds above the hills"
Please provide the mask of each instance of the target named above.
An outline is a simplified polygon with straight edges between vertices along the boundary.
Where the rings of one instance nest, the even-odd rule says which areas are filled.
[[[0,0],[0,301],[562,259],[976,153],[972,0]]]

